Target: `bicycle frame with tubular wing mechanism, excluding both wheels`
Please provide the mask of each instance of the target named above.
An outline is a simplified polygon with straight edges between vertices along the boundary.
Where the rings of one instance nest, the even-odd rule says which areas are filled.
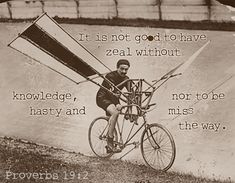
[[[120,124],[119,121],[117,122],[117,133],[119,135],[119,140],[118,142],[115,142],[116,145],[119,145],[119,147],[121,147],[122,149],[124,149],[129,145],[134,145],[134,148],[138,147],[137,142],[131,142],[131,141],[142,128],[147,129],[148,127],[146,113],[150,111],[149,109],[151,106],[155,105],[155,103],[150,104],[154,92],[167,80],[177,75],[179,74],[164,76],[160,80],[154,81],[152,85],[144,79],[128,79],[123,81],[119,85],[115,86],[117,88],[119,88],[124,84],[127,84],[128,86],[127,92],[120,93],[121,96],[125,97],[125,100],[122,101],[125,101],[126,105],[124,105],[121,108],[119,113],[119,115],[123,116],[123,121],[122,124]],[[160,81],[163,82],[159,86],[155,87],[155,85]],[[133,113],[134,108],[136,108],[136,114]],[[143,123],[140,125],[138,129],[133,131],[135,123],[137,123],[139,117],[143,118]],[[127,135],[127,138],[123,142],[123,129],[124,129],[125,120],[130,120],[133,122],[133,124]],[[150,135],[152,136],[153,134]],[[133,149],[131,149],[130,151],[132,151]],[[124,157],[126,154],[124,154],[122,157]]]

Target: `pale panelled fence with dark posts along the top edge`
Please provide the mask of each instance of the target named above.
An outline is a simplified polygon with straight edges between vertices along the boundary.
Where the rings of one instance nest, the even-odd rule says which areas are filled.
[[[59,18],[231,21],[216,0],[13,0],[0,3],[0,18],[29,19],[43,12]]]

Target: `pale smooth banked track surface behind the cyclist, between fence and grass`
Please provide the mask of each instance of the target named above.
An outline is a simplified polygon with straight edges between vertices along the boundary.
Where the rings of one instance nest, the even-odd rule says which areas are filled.
[[[86,155],[93,155],[87,141],[87,131],[90,122],[103,111],[95,104],[97,87],[91,83],[74,85],[66,78],[35,63],[22,54],[8,48],[6,45],[21,32],[25,24],[0,24],[0,135],[14,136],[42,144],[52,145],[67,150],[74,150]],[[193,172],[203,177],[224,178],[235,180],[235,147],[234,147],[234,77],[225,82],[214,92],[225,94],[221,101],[200,101],[194,105],[194,114],[181,116],[171,120],[168,108],[175,106],[188,107],[193,101],[175,102],[171,100],[172,93],[206,92],[215,88],[218,81],[233,76],[235,36],[233,32],[216,31],[184,31],[154,28],[125,28],[109,26],[62,25],[68,32],[79,40],[79,33],[94,35],[103,33],[112,34],[148,34],[155,35],[160,32],[179,34],[206,34],[210,45],[203,51],[197,60],[186,70],[183,76],[169,81],[154,97],[158,108],[150,113],[149,122],[160,122],[166,125],[173,134],[177,145],[177,157],[172,170],[180,172]],[[131,62],[129,76],[131,78],[145,78],[153,80],[169,71],[181,61],[185,61],[205,41],[192,43],[179,42],[81,42],[86,48],[103,60],[110,68],[115,68],[115,63],[120,56],[105,56],[107,49],[132,50],[148,47],[179,48],[182,56],[179,57],[127,57]],[[12,92],[70,92],[78,100],[75,102],[22,102],[13,101]],[[210,90],[209,90],[210,91]],[[75,108],[86,107],[86,115],[66,116],[30,116],[29,107],[37,108]],[[179,122],[212,122],[221,123],[217,132],[202,129],[180,130]],[[223,129],[222,127],[225,127]],[[135,150],[126,159],[143,163],[139,150]]]

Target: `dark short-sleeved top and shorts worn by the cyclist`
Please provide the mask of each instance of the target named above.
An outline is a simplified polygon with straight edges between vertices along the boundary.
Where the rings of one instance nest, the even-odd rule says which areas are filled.
[[[107,78],[109,81],[111,81],[115,86],[117,86],[118,84],[120,84],[124,80],[129,79],[127,76],[125,76],[125,77],[120,76],[120,74],[118,74],[117,71],[112,71],[112,72],[108,73],[105,76],[105,78]],[[112,88],[106,80],[103,81],[102,86],[104,86],[105,88],[107,88],[109,90]],[[127,83],[120,86],[119,89],[122,90],[124,87],[127,88]],[[117,90],[113,90],[112,92],[116,93]],[[96,103],[99,107],[101,107],[102,109],[104,109],[106,111],[107,107],[110,104],[114,104],[114,105],[119,104],[119,99],[118,99],[118,97],[112,95],[112,93],[108,92],[104,88],[100,88],[99,91],[97,92],[97,95],[96,95]]]

